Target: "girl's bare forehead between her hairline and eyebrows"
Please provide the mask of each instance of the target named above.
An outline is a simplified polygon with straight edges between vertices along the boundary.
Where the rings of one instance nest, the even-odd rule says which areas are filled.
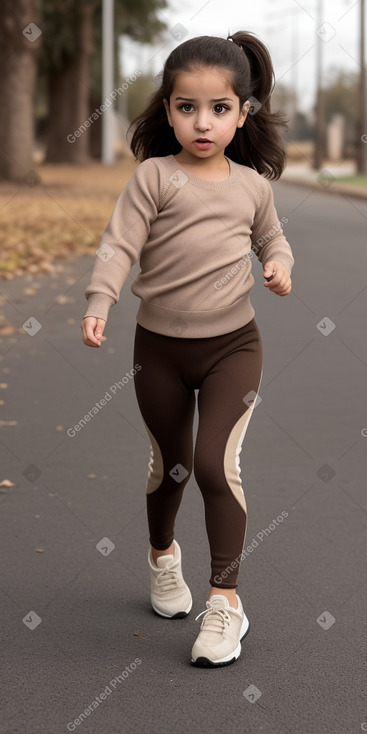
[[[212,93],[217,97],[229,93],[236,96],[231,85],[231,72],[227,69],[203,68],[176,74],[172,94],[189,96],[190,90],[200,92],[200,96],[211,97]]]

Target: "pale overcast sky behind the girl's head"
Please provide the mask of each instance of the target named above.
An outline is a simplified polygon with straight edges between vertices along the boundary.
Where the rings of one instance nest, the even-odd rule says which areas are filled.
[[[325,82],[335,67],[359,72],[360,2],[322,2],[324,40],[321,48]],[[169,29],[167,41],[155,47],[138,46],[124,36],[123,75],[128,76],[134,69],[157,74],[172,49],[194,36],[226,38],[238,30],[248,30],[268,46],[276,82],[296,85],[299,107],[309,111],[315,94],[319,3],[320,0],[168,0],[168,9],[159,13]],[[180,30],[181,38],[174,37]]]

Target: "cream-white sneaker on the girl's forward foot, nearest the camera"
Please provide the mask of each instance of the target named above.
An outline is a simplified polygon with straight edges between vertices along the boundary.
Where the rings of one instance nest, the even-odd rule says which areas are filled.
[[[215,594],[206,602],[199,636],[191,651],[191,662],[200,668],[217,668],[234,663],[241,654],[241,640],[250,629],[241,599],[238,607],[229,606],[227,597]]]

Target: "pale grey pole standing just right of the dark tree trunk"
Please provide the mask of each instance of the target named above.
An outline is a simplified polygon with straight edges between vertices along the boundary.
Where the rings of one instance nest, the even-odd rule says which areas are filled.
[[[114,0],[103,0],[102,10],[102,104],[106,100],[111,104],[106,105],[102,113],[102,161],[103,163],[114,162],[113,137],[114,137],[114,111],[113,99],[109,96],[114,89],[114,23],[113,23]]]

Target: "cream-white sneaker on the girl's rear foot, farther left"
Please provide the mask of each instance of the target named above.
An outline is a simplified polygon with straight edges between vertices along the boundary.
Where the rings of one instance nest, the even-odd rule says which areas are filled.
[[[182,576],[180,546],[175,540],[173,544],[174,555],[159,556],[157,565],[153,562],[152,549],[149,548],[150,599],[154,611],[161,617],[179,619],[188,615],[192,597]]]

